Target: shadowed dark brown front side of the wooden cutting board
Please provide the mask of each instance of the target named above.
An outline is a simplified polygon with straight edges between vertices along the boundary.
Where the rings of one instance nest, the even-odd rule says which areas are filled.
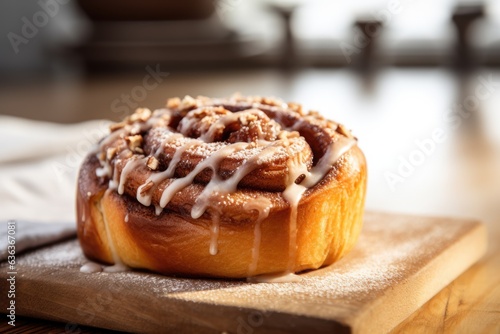
[[[33,282],[30,282],[33,283]],[[71,296],[72,303],[54,301],[47,292],[52,291],[47,281],[39,281],[36,291],[39,300],[44,300],[43,310],[34,309],[30,305],[21,305],[20,315],[46,320],[59,321],[65,324],[66,333],[79,333],[80,326],[119,330],[137,333],[304,333],[312,330],[318,333],[348,334],[350,328],[338,322],[307,316],[290,316],[275,311],[258,311],[253,308],[214,305],[189,300],[169,300],[168,303],[158,301],[148,314],[125,323],[123,319],[127,312],[140,314],[146,301],[134,304],[137,308],[127,307],[129,300],[124,294],[111,291],[112,303],[103,304],[101,293],[90,296],[85,292],[75,290]],[[26,291],[26,290],[25,290]],[[32,291],[35,292],[35,291]],[[32,298],[33,295],[24,292],[20,299]],[[109,317],[110,311],[120,313],[119,317]],[[223,314],[224,316],[221,316]],[[146,317],[147,316],[147,317]],[[139,320],[139,321],[138,321]]]

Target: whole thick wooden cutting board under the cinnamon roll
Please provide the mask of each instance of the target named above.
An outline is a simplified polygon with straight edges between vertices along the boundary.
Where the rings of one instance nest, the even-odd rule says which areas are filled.
[[[73,333],[76,324],[133,332],[382,333],[476,262],[486,240],[475,221],[367,213],[347,257],[281,284],[84,274],[86,260],[69,240],[18,256],[16,314],[67,322]],[[6,264],[0,269],[4,281]],[[1,290],[6,296],[5,284]]]

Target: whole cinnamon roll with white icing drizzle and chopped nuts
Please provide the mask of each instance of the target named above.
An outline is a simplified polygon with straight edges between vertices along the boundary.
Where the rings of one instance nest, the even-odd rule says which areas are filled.
[[[81,166],[78,237],[107,264],[245,278],[329,265],[362,227],[366,163],[341,124],[278,99],[170,99]]]

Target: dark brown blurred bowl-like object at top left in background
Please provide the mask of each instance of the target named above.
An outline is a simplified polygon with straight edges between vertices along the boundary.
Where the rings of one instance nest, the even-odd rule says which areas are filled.
[[[92,20],[90,36],[73,50],[87,71],[169,66],[216,66],[251,56],[256,40],[216,16],[218,1],[78,0]]]

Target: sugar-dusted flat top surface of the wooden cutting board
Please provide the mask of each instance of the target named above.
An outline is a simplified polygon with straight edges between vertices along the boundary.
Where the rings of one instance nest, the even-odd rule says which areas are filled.
[[[88,260],[76,240],[19,255],[18,267],[24,280],[45,277],[54,288],[78,282],[77,287],[96,293],[126,293],[165,303],[175,299],[342,320],[407,281],[476,226],[470,221],[368,213],[360,240],[346,258],[302,273],[295,283],[177,278],[146,271],[81,273]]]

